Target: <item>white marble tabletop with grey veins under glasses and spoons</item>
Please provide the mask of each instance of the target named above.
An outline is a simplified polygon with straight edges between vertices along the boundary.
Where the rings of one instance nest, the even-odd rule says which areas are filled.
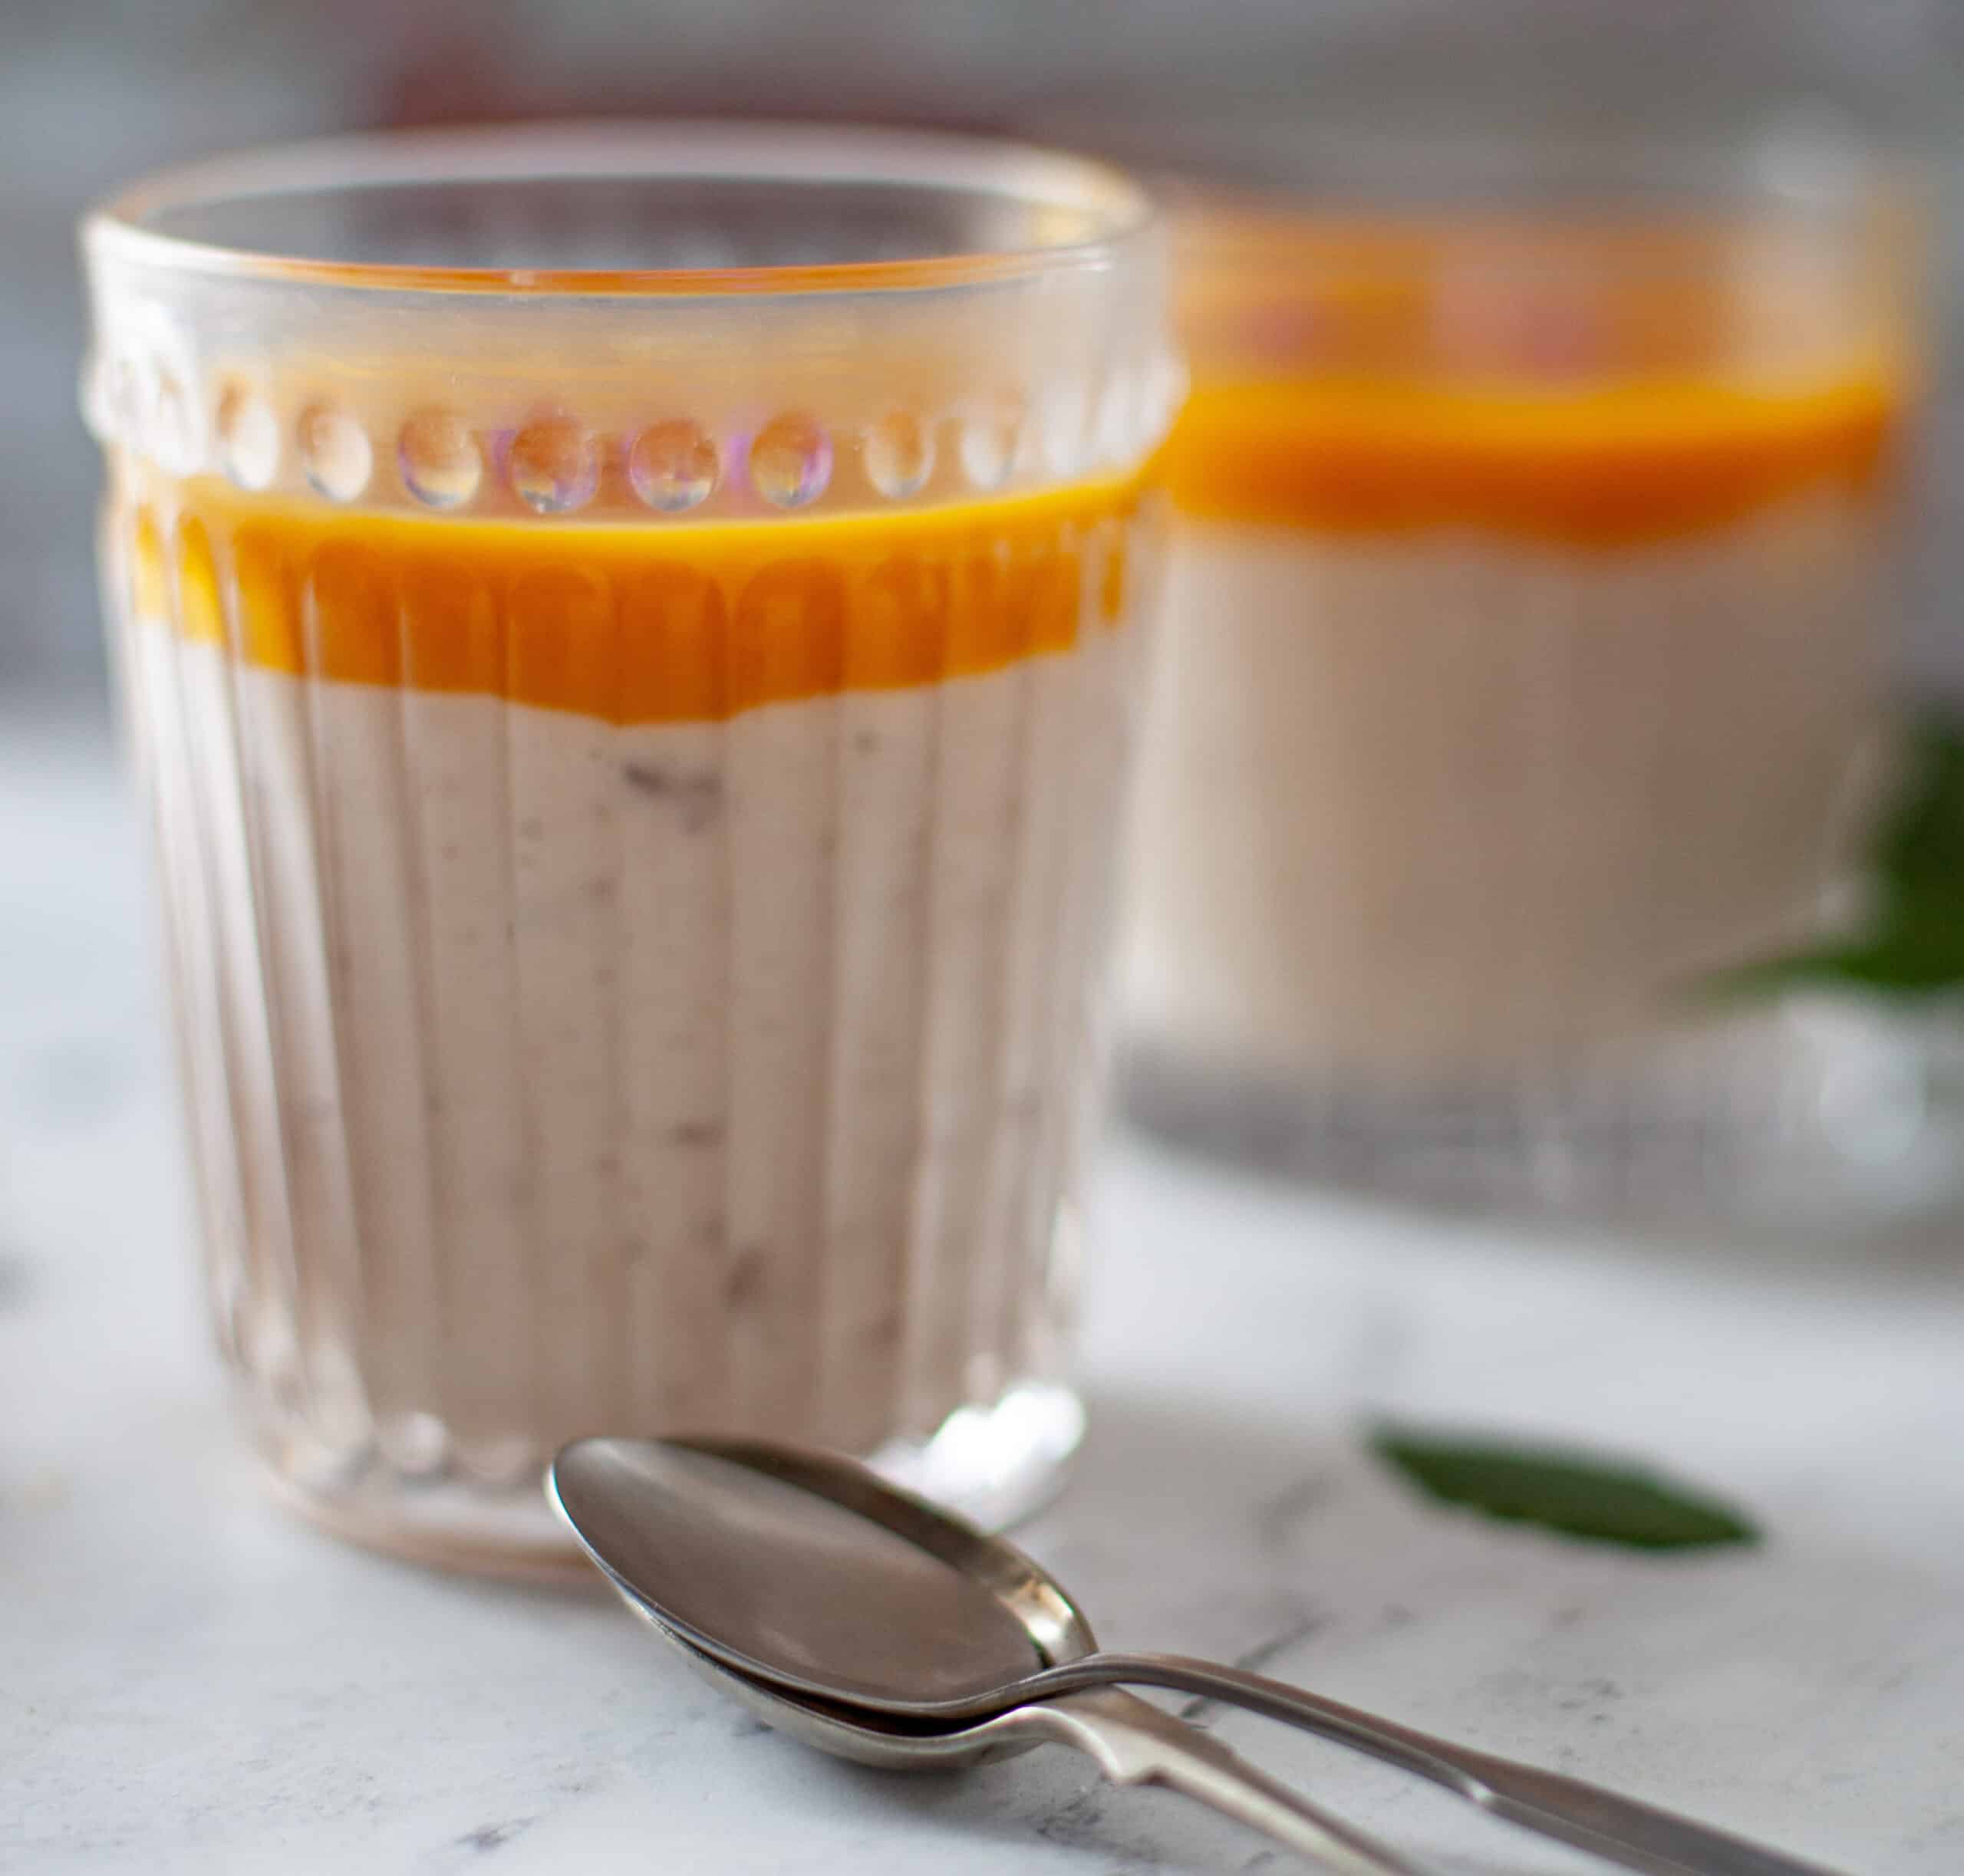
[[[446,1581],[257,1493],[194,1312],[136,817],[0,719],[0,1870],[1281,1870],[1041,1752],[813,1758],[599,1595]],[[1870,1876],[1964,1868],[1964,1247],[1532,1241],[1118,1145],[1096,1432],[1027,1532],[1104,1640],[1263,1660]],[[1644,1560],[1428,1509],[1363,1412],[1573,1434],[1748,1505]],[[1457,1876],[1587,1868],[1202,1715]]]

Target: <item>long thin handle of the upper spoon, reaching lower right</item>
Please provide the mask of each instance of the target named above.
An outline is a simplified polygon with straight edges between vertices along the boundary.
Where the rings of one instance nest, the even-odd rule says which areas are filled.
[[[1473,1752],[1263,1674],[1182,1654],[1094,1654],[1049,1668],[1041,1680],[1068,1682],[1078,1668],[1096,1672],[1100,1680],[1198,1693],[1288,1721],[1306,1733],[1430,1778],[1495,1817],[1593,1850],[1624,1868],[1644,1870],[1646,1876],[1834,1876],[1821,1864],[1746,1843],[1636,1797]]]

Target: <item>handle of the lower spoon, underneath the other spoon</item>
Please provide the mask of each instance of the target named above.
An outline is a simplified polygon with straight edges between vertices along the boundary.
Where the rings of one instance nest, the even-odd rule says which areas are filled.
[[[1019,1731],[1088,1752],[1116,1786],[1167,1786],[1308,1856],[1332,1876],[1422,1876],[1363,1831],[1298,1797],[1237,1752],[1119,1687],[1021,1707]]]

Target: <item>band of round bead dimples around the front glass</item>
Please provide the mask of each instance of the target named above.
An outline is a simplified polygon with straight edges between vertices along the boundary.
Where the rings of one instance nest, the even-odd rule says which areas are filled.
[[[850,422],[786,409],[715,426],[656,411],[613,426],[536,405],[503,420],[444,403],[377,413],[320,393],[283,407],[259,379],[206,389],[175,363],[92,359],[90,428],[167,473],[222,475],[249,493],[515,519],[795,515],[1037,487],[1137,464],[1165,440],[1184,391],[1171,359],[1139,358],[1090,383],[1004,387],[939,409],[890,403]]]

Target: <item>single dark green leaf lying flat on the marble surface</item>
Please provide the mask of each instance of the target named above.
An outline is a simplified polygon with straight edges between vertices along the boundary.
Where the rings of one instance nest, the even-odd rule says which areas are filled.
[[[1760,1538],[1738,1513],[1640,1465],[1389,1424],[1373,1428],[1371,1452],[1434,1499],[1571,1538],[1630,1550],[1699,1550]]]

